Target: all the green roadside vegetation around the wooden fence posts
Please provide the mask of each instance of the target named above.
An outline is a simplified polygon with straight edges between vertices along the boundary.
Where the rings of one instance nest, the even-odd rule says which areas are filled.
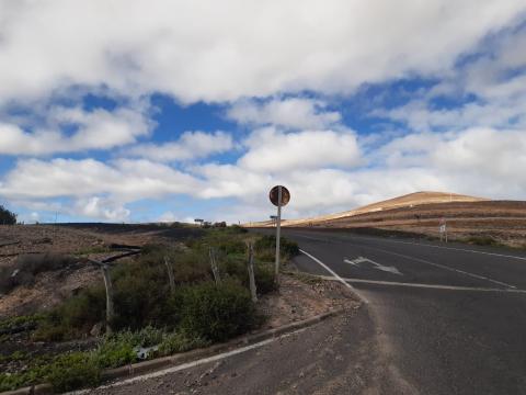
[[[248,241],[255,242],[258,292],[272,292],[276,289],[274,252],[270,251],[275,242],[272,238],[261,241],[241,227],[218,227],[188,240],[186,246],[148,245],[139,256],[123,260],[111,270],[115,294],[112,336],[101,337],[98,347],[85,352],[38,358],[10,356],[26,358],[24,363],[28,368],[0,374],[0,390],[44,381],[50,382],[56,391],[95,385],[103,369],[136,362],[136,347],[156,346],[150,357],[167,356],[224,341],[256,327],[263,317],[255,313],[248,291]],[[285,259],[297,251],[297,246],[286,239],[283,246]],[[217,255],[221,273],[218,284],[213,281],[210,248]],[[75,261],[61,256],[32,256],[19,259],[15,267],[27,273],[30,284],[37,273],[64,269]],[[173,269],[174,292],[170,289],[165,261]],[[48,313],[1,321],[0,328],[28,325],[35,341],[84,338],[95,326],[104,327],[105,308],[105,290],[100,283],[85,287]]]

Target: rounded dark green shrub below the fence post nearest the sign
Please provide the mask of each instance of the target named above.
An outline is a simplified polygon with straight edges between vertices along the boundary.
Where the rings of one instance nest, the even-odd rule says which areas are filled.
[[[181,328],[185,334],[222,341],[242,334],[255,323],[249,291],[233,282],[205,282],[180,291]]]

